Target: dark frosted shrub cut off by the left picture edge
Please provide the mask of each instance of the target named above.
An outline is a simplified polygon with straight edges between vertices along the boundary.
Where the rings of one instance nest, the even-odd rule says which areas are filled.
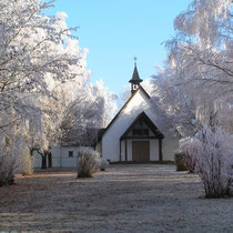
[[[14,183],[14,174],[18,168],[17,158],[10,153],[0,154],[0,186]]]

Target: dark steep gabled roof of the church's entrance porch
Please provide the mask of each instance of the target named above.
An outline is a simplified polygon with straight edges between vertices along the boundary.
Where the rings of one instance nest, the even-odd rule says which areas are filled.
[[[158,139],[163,139],[164,135],[159,131],[159,129],[155,126],[155,124],[151,121],[151,119],[145,114],[145,112],[141,112],[135,120],[133,121],[133,123],[126,129],[126,131],[122,134],[121,140],[124,139],[128,133],[132,130],[132,128],[136,124],[136,122],[142,119],[145,124],[150,128],[150,130],[154,133],[154,135]]]

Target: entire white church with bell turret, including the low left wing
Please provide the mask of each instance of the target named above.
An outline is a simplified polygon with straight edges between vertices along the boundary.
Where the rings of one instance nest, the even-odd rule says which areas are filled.
[[[70,143],[52,148],[52,166],[75,168],[81,145],[95,148],[102,159],[110,163],[174,161],[179,140],[161,124],[161,121],[166,124],[165,115],[159,114],[153,98],[140,84],[142,81],[134,63],[133,75],[129,81],[131,97],[105,129],[97,129],[98,142],[95,136],[89,139],[88,134],[82,141],[77,140],[72,138],[75,133],[72,133]],[[89,134],[97,135],[92,131]],[[34,168],[40,166],[41,156],[36,152]]]

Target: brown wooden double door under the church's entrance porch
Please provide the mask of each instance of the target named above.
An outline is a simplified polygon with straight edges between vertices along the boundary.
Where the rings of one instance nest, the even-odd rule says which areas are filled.
[[[135,162],[150,161],[149,141],[132,141],[132,160]]]

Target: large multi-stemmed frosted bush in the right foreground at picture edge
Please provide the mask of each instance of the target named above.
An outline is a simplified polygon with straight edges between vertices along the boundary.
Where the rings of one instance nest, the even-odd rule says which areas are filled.
[[[193,155],[206,197],[233,196],[233,143],[221,128],[205,126],[184,149]]]

